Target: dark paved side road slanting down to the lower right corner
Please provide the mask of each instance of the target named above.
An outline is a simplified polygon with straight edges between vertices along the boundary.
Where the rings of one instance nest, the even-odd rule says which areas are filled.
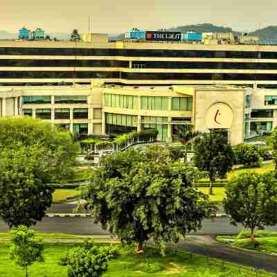
[[[188,235],[186,240],[168,247],[277,273],[277,256],[233,249],[216,242],[210,235]]]

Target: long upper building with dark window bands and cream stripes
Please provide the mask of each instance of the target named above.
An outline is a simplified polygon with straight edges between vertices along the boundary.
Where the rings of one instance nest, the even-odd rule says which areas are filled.
[[[0,42],[0,86],[17,84],[277,85],[277,46],[182,42]]]

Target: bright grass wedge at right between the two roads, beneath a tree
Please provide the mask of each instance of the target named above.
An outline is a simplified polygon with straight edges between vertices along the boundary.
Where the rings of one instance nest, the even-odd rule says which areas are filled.
[[[238,235],[228,236],[220,235],[217,240],[232,247],[240,247],[248,250],[255,250],[258,252],[265,252],[277,254],[277,233],[270,233],[267,231],[257,231],[255,233],[255,240],[258,244],[251,242],[250,233],[247,231],[240,232]]]

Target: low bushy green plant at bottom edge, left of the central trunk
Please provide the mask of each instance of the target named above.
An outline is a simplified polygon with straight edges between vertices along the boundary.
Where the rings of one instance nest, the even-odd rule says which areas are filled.
[[[105,274],[108,261],[116,258],[117,250],[111,247],[77,247],[71,249],[64,265],[68,266],[68,277],[98,277]]]

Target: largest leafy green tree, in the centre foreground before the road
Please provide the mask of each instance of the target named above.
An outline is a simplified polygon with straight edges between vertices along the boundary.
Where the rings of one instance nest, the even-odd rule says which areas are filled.
[[[93,170],[83,191],[85,207],[123,243],[136,242],[138,253],[150,238],[162,250],[164,242],[178,242],[200,229],[214,211],[194,188],[197,177],[198,170],[172,161],[161,146],[127,150],[104,157]]]

